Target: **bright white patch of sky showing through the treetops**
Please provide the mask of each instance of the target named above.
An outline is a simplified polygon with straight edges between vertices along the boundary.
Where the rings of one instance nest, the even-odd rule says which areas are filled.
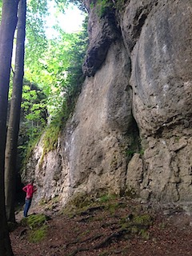
[[[50,2],[49,11],[50,15],[46,18],[47,38],[54,38],[58,35],[56,30],[54,30],[54,26],[56,25],[60,26],[66,33],[73,33],[81,30],[85,14],[83,14],[77,6],[70,4],[65,14],[62,14],[61,12],[57,12],[54,3]]]

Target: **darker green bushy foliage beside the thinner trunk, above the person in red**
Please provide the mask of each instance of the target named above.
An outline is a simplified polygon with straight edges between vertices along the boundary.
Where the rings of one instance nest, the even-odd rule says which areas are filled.
[[[21,124],[18,136],[18,162],[25,166],[46,126],[46,96],[38,86],[24,81]],[[22,169],[22,166],[19,166]]]

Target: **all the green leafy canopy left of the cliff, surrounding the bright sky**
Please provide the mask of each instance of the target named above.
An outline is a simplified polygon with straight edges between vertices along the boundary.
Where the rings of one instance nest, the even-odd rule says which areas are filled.
[[[49,147],[47,143],[56,145],[59,130],[74,108],[83,81],[82,62],[88,44],[87,20],[81,31],[71,34],[64,32],[57,24],[54,26],[57,36],[47,38],[46,19],[50,15],[50,2],[53,1],[27,1],[25,79],[22,92],[22,122],[18,139],[18,151],[22,158],[25,154],[30,155],[29,148],[32,149],[32,145],[45,128],[46,147]],[[70,3],[83,11],[86,10],[80,0],[54,0],[56,13],[65,13]],[[1,11],[2,0],[0,18]],[[14,63],[12,67],[14,70]],[[13,79],[13,74],[10,79]]]

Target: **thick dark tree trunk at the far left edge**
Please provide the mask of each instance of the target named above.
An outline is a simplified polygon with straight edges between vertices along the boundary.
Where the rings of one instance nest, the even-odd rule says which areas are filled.
[[[0,255],[12,256],[6,222],[4,171],[6,147],[6,117],[10,82],[10,63],[14,30],[17,24],[18,0],[3,0],[0,26]]]

